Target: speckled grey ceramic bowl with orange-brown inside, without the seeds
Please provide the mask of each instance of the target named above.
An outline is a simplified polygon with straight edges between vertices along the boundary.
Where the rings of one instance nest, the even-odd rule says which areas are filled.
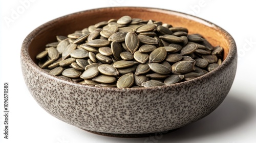
[[[224,47],[224,62],[194,80],[152,88],[104,88],[49,75],[37,66],[36,55],[54,42],[96,22],[123,15],[154,19],[200,33]],[[22,71],[36,102],[68,124],[104,135],[144,135],[174,130],[200,120],[227,96],[237,68],[237,48],[222,28],[204,19],[170,10],[136,7],[101,8],[62,16],[32,31],[21,49]]]

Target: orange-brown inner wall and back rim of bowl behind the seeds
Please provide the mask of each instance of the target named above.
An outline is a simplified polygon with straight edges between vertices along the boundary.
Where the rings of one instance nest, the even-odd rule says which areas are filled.
[[[199,33],[213,46],[222,46],[224,48],[224,59],[228,55],[229,40],[218,26],[203,19],[175,11],[138,7],[94,9],[73,13],[49,21],[40,26],[37,31],[34,31],[35,34],[31,37],[32,40],[28,47],[29,55],[33,62],[37,63],[36,55],[44,51],[47,43],[55,42],[56,35],[68,35],[76,30],[82,30],[94,25],[97,22],[108,21],[111,18],[118,19],[124,15],[129,15],[132,18],[162,21],[173,27],[185,27],[188,29],[189,34]]]

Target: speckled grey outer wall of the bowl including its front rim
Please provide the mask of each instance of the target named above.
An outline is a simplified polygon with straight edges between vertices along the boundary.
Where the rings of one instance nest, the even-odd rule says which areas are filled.
[[[144,134],[180,128],[214,111],[236,75],[236,44],[224,31],[229,40],[227,58],[217,69],[194,80],[153,88],[99,88],[69,82],[49,75],[31,60],[28,45],[41,28],[22,46],[20,59],[26,85],[48,113],[85,130]]]

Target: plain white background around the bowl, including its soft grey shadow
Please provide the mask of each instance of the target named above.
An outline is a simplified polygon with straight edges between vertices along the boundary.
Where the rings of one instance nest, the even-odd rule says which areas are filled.
[[[21,2],[25,1],[29,3],[23,5]],[[204,18],[229,32],[236,40],[239,61],[236,78],[224,102],[202,120],[154,139],[95,135],[57,120],[39,107],[29,93],[21,72],[20,47],[25,37],[54,18],[112,6],[180,11]],[[0,10],[0,142],[256,142],[256,9],[253,1],[1,0]],[[15,12],[18,15],[13,17]],[[3,137],[4,82],[9,82],[10,90],[9,139]]]

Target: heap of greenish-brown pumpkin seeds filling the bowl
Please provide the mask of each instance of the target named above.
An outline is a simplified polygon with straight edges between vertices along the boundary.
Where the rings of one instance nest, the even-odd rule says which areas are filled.
[[[184,27],[123,16],[56,36],[36,56],[49,74],[101,87],[153,87],[217,68],[223,48]]]

